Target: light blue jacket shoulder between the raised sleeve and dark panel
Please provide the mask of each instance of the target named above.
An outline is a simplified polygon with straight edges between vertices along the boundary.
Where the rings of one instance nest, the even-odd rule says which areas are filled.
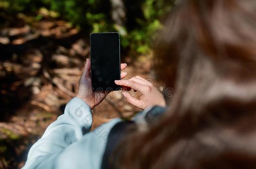
[[[101,168],[102,155],[106,149],[110,131],[113,126],[121,121],[122,119],[113,119],[85,134],[81,140],[68,146],[55,160],[55,168]]]

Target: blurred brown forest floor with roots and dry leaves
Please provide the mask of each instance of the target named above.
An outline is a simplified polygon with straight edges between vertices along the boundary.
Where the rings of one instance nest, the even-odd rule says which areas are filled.
[[[31,145],[63,114],[76,96],[89,47],[89,33],[53,18],[30,25],[15,18],[0,28],[0,168],[24,166]],[[151,55],[122,60],[128,64],[127,78],[154,79]],[[112,92],[94,108],[92,129],[138,111],[120,91]]]

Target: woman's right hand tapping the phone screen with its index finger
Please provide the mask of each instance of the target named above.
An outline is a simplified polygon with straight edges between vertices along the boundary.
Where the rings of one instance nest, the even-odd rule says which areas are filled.
[[[141,97],[137,99],[127,91],[123,91],[123,96],[126,100],[138,108],[144,109],[149,106],[166,106],[162,93],[153,86],[152,82],[140,76],[130,78],[129,80],[117,80],[115,83],[120,86],[130,87],[141,93]]]

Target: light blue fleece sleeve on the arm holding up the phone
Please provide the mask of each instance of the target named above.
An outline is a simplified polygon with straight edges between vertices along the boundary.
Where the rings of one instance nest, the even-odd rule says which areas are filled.
[[[73,98],[64,114],[47,127],[41,139],[29,150],[23,169],[55,168],[55,160],[66,147],[81,140],[92,125],[91,108],[81,99]]]

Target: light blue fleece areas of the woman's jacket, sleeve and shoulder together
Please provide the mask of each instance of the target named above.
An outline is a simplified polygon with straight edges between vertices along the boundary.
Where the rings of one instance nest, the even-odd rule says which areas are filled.
[[[113,119],[89,132],[91,108],[81,99],[73,98],[64,114],[31,147],[22,169],[99,169],[108,134],[120,121]]]

